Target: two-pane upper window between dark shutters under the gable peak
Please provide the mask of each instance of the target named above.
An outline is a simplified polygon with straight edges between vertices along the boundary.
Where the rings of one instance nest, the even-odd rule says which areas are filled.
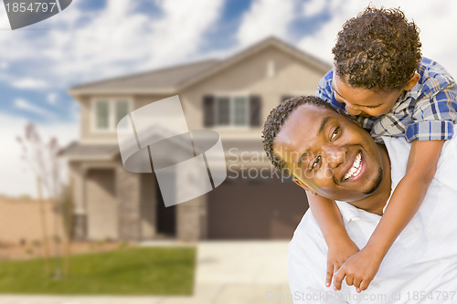
[[[216,125],[246,127],[249,125],[247,96],[216,97]]]

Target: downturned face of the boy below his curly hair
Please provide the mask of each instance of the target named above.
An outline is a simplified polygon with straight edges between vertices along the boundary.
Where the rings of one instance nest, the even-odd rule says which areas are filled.
[[[345,103],[345,110],[349,115],[379,116],[392,110],[402,89],[386,92],[374,92],[371,89],[354,88],[343,81],[334,72],[332,87],[335,99]]]

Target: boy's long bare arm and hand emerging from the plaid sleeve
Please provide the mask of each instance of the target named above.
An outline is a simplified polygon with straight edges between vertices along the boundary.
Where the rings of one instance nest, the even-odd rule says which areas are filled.
[[[335,274],[335,288],[346,277],[357,292],[367,289],[382,259],[403,228],[416,214],[436,173],[444,141],[414,141],[409,152],[406,175],[401,179],[377,228],[360,252],[350,257]]]

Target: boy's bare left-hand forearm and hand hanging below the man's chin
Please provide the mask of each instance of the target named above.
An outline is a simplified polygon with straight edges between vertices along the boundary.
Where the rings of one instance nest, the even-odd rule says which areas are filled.
[[[314,219],[328,246],[325,286],[329,287],[334,271],[341,267],[347,258],[354,255],[358,251],[358,247],[347,235],[343,217],[335,201],[309,191],[306,191],[306,195]]]

